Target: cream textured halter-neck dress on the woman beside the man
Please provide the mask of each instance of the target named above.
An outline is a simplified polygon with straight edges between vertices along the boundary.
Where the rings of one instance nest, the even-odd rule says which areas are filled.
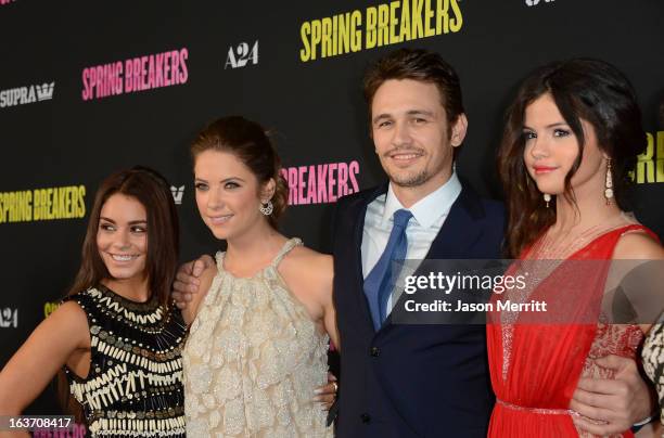
[[[327,334],[320,334],[277,268],[289,240],[252,278],[218,273],[191,325],[183,351],[190,437],[332,437],[312,401],[328,382]]]

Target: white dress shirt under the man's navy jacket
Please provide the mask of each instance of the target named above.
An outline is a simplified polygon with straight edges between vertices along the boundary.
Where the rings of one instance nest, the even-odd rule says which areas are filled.
[[[369,275],[385,250],[394,226],[393,215],[396,210],[403,208],[412,214],[406,228],[408,239],[406,259],[422,260],[426,257],[432,242],[440,231],[459,193],[461,193],[461,182],[457,173],[452,171],[445,184],[418,201],[410,208],[405,208],[395,196],[391,182],[387,193],[380,195],[367,206],[361,246],[362,278],[366,279]],[[391,310],[392,295],[387,301],[387,313]]]

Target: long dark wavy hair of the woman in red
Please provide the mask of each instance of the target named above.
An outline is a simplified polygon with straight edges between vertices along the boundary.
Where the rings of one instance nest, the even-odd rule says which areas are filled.
[[[578,141],[579,153],[565,177],[563,196],[576,205],[571,180],[583,156],[585,136],[580,119],[595,129],[599,149],[612,160],[617,206],[627,209],[626,189],[637,155],[647,145],[636,92],[613,65],[591,59],[553,62],[537,68],[522,82],[507,112],[498,152],[498,170],[509,209],[506,253],[518,257],[556,221],[556,203],[546,208],[542,194],[523,162],[525,108],[542,94],[551,94],[560,114]]]

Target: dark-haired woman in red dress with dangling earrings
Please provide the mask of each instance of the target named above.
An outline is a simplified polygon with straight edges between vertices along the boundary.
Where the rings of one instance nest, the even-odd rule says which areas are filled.
[[[593,359],[634,358],[649,328],[610,324],[599,305],[617,285],[611,260],[664,258],[657,237],[625,212],[628,172],[644,147],[634,89],[612,65],[552,63],[522,83],[499,151],[508,252],[523,260],[510,269],[539,279],[521,299],[550,300],[559,314],[489,314],[490,437],[592,436],[578,425],[611,422],[570,402],[580,377],[613,378]]]

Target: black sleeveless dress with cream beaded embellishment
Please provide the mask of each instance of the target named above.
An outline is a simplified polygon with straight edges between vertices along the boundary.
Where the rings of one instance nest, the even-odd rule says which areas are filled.
[[[66,297],[86,312],[90,371],[65,366],[93,437],[183,437],[181,348],[187,325],[156,297],[136,302],[98,285]]]

